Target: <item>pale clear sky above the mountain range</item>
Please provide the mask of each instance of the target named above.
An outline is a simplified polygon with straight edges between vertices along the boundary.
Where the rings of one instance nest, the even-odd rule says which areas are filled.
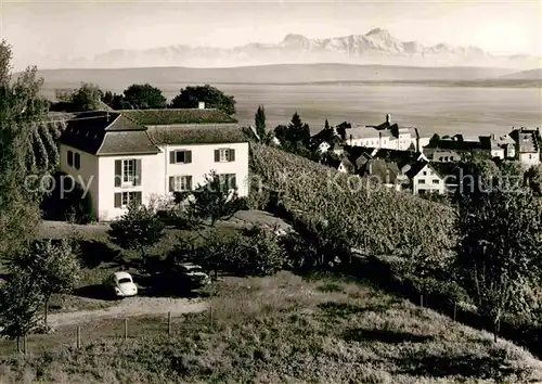
[[[15,62],[91,57],[112,49],[234,47],[361,35],[542,55],[542,1],[47,1],[0,0],[0,38]]]

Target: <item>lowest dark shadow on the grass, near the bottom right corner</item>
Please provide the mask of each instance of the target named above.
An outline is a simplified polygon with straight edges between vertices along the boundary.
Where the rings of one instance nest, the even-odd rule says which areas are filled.
[[[488,355],[463,354],[460,356],[409,356],[396,359],[401,373],[446,377],[461,375],[481,380],[492,379],[498,383],[506,382],[516,376],[521,382],[528,382],[529,370],[513,367],[506,358],[504,349],[492,350]]]

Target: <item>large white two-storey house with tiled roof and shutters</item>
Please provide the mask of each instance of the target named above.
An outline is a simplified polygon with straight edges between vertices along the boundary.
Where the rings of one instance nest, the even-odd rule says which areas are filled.
[[[85,117],[85,118],[83,118]],[[217,110],[134,110],[75,116],[60,139],[60,170],[90,193],[94,216],[117,218],[204,184],[215,170],[248,195],[248,142]]]

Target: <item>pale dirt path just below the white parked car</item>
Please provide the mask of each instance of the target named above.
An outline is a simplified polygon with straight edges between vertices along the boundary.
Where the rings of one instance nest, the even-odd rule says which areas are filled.
[[[207,309],[207,304],[202,299],[166,298],[166,297],[128,297],[118,305],[96,310],[79,310],[74,312],[49,315],[48,322],[51,327],[74,325],[98,319],[126,318],[144,315],[180,316],[190,312],[201,312]]]

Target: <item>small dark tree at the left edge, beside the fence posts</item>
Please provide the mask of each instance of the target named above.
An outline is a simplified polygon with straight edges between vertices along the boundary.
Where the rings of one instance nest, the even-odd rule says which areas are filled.
[[[0,334],[17,341],[38,325],[37,312],[42,296],[37,283],[25,270],[12,268],[9,280],[0,286]]]

